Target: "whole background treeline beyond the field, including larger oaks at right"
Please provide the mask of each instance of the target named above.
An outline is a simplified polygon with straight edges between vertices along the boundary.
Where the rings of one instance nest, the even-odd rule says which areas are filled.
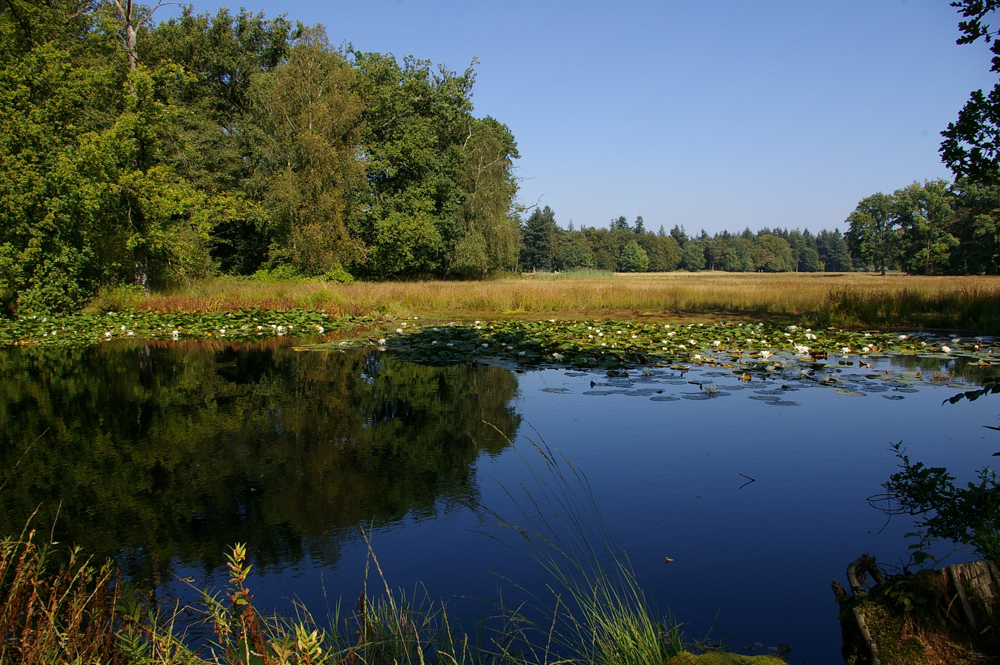
[[[523,270],[598,268],[622,272],[843,272],[901,270],[910,275],[1000,274],[1000,185],[961,178],[915,182],[860,201],[847,231],[763,228],[753,233],[683,227],[669,233],[625,217],[609,228],[559,228],[548,207],[522,230]]]

